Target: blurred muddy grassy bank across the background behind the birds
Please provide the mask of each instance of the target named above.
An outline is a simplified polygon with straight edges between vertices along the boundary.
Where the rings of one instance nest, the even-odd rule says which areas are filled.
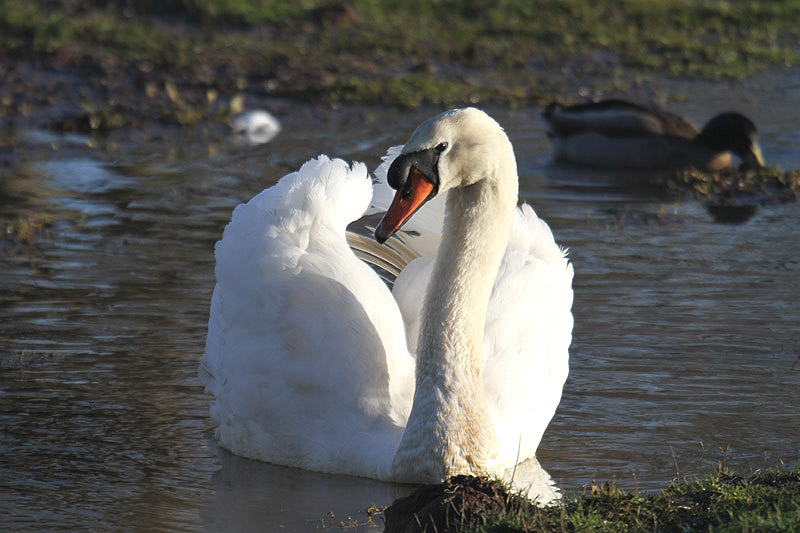
[[[328,104],[539,104],[578,86],[624,90],[642,75],[741,78],[790,67],[798,19],[797,1],[4,0],[0,117],[67,96],[105,128],[137,117],[193,123],[225,114],[237,92]],[[37,86],[32,71],[82,84]]]

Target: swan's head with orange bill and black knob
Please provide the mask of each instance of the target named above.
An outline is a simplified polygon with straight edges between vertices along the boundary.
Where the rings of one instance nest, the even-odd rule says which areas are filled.
[[[504,151],[512,157],[502,157]],[[428,200],[449,189],[494,178],[502,161],[515,164],[511,142],[485,112],[468,107],[429,118],[417,126],[389,167],[389,185],[397,193],[375,238],[386,242]]]

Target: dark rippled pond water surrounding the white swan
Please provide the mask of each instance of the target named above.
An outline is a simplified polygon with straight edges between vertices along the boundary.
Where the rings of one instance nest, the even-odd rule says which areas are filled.
[[[746,89],[671,107],[697,122],[741,109],[771,164],[800,166],[800,95]],[[0,166],[0,223],[27,221],[33,238],[0,233],[0,527],[303,531],[364,522],[369,504],[408,493],[220,450],[196,370],[232,208],[320,152],[374,168],[430,114],[287,113],[256,148],[221,128],[100,149],[18,132],[18,159]],[[795,464],[798,205],[720,224],[642,176],[552,166],[536,110],[493,114],[522,195],[576,272],[571,374],[543,466],[580,490],[654,489],[722,461]]]

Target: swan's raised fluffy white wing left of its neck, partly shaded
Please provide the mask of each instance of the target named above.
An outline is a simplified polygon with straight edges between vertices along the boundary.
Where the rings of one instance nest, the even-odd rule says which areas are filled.
[[[216,245],[201,378],[220,444],[315,471],[385,477],[410,409],[402,318],[345,239],[363,164],[320,156],[239,205]]]

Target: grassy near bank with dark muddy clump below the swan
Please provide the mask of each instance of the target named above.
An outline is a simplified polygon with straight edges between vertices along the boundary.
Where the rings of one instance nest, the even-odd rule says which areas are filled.
[[[387,533],[401,531],[417,518],[429,531],[440,533],[800,531],[799,468],[756,471],[747,478],[718,471],[703,480],[675,481],[658,494],[605,484],[585,494],[567,494],[548,508],[476,479],[465,476],[443,488],[443,505],[428,503],[416,518],[388,508]],[[405,531],[421,530],[414,527]]]

